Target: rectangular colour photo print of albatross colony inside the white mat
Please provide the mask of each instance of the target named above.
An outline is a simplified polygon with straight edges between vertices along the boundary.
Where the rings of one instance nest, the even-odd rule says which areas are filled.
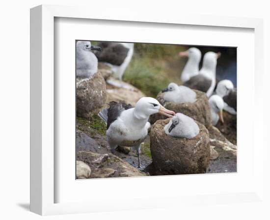
[[[236,47],[74,51],[77,179],[237,172]]]

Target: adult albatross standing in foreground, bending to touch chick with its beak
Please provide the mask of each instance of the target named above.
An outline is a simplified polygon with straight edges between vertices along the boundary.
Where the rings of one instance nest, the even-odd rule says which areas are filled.
[[[140,98],[135,108],[125,102],[110,102],[108,109],[101,110],[98,115],[107,123],[107,141],[111,153],[115,153],[117,146],[133,147],[140,163],[140,147],[146,138],[151,114],[160,113],[167,117],[175,115],[174,111],[165,109],[156,99],[151,97]]]

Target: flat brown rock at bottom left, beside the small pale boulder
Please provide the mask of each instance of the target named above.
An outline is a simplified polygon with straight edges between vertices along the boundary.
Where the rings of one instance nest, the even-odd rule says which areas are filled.
[[[90,178],[147,176],[126,161],[113,154],[97,154],[79,151],[77,160],[81,160],[91,168]]]

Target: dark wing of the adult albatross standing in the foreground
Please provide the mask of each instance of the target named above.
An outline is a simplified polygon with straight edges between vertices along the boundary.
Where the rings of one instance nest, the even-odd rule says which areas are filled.
[[[121,114],[122,111],[131,109],[131,104],[126,104],[124,101],[120,102],[110,102],[108,108],[108,120],[107,120],[107,130],[112,122],[114,122]]]

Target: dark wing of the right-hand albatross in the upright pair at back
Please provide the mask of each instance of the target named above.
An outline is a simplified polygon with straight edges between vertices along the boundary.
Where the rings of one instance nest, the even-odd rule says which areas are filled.
[[[208,79],[207,77],[198,74],[196,76],[193,76],[189,79],[189,81],[185,82],[183,86],[200,90],[203,92],[207,92],[208,89],[211,87],[212,80]]]

